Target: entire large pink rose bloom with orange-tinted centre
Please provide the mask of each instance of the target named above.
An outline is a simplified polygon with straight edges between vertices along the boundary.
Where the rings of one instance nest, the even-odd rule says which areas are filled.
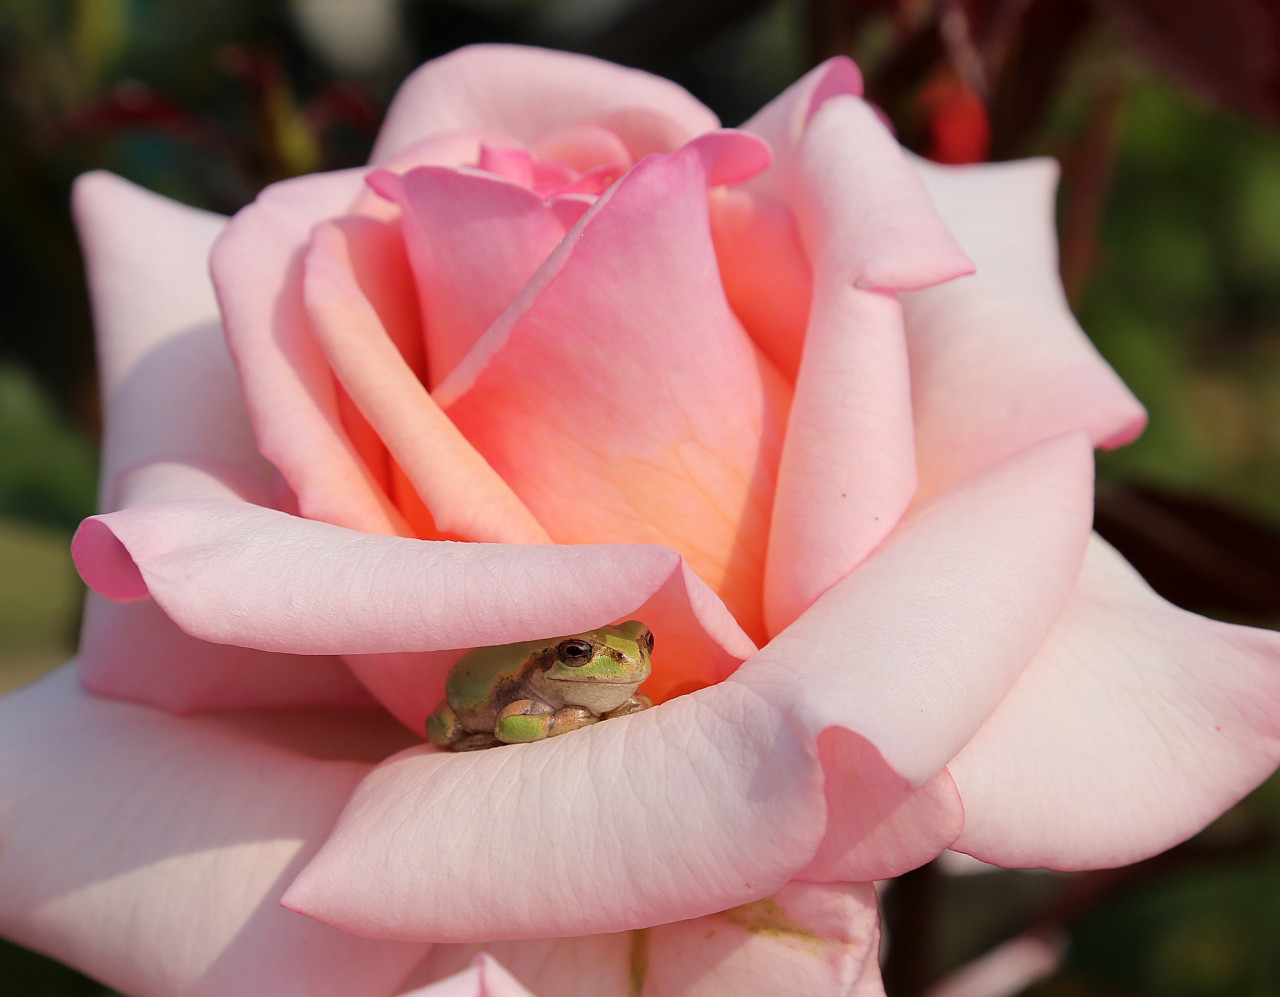
[[[872,881],[1130,863],[1265,778],[1277,635],[1089,536],[1144,415],[1053,164],[859,92],[722,131],[479,47],[230,220],[83,178],[96,594],[0,706],[4,930],[133,994],[874,994]],[[628,618],[653,709],[422,742],[462,649]]]

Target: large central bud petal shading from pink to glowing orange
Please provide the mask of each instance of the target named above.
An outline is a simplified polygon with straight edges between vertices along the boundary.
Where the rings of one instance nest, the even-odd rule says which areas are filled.
[[[707,184],[764,155],[723,132],[637,165],[435,392],[554,540],[671,545],[753,635],[790,393],[724,301]]]

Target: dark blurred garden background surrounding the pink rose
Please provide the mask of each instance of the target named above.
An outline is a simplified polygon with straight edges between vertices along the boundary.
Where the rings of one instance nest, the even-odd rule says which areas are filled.
[[[923,155],[1056,156],[1064,282],[1151,411],[1100,458],[1098,529],[1174,602],[1280,625],[1277,0],[0,0],[0,691],[74,648],[99,415],[70,180],[232,212],[362,163],[404,73],[475,41],[641,67],[726,124],[849,54]],[[1280,782],[1125,870],[928,866],[886,918],[890,997],[1027,930],[1069,938],[1039,997],[1280,996]],[[108,993],[13,946],[0,991]]]

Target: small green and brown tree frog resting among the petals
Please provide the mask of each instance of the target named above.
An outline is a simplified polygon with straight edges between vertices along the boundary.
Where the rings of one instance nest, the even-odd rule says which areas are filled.
[[[653,631],[639,619],[549,640],[466,651],[444,701],[426,718],[431,744],[453,751],[540,741],[648,709]]]

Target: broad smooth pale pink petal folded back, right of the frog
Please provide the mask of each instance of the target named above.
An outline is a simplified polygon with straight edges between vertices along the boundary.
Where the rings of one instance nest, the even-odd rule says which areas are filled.
[[[1079,571],[1092,485],[1074,434],[943,493],[730,682],[792,710],[815,740],[842,727],[869,741],[901,800],[938,776],[1044,640]],[[867,791],[893,782],[881,773]],[[927,809],[946,822],[941,840],[956,815],[938,791]]]

